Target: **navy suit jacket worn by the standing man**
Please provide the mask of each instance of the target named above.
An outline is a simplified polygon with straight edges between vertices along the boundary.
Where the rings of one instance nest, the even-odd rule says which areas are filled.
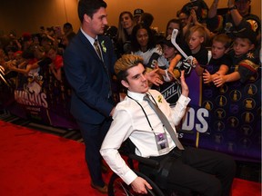
[[[66,47],[63,55],[65,76],[72,87],[71,113],[77,121],[92,124],[103,122],[114,107],[108,99],[108,93],[116,55],[113,44],[107,36],[98,35],[98,42],[104,62],[80,30]],[[109,77],[104,64],[110,74]]]

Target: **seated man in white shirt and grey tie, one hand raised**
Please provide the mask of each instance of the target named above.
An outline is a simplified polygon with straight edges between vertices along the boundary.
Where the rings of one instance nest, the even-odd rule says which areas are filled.
[[[236,171],[234,160],[220,152],[178,145],[150,102],[144,100],[146,94],[149,95],[156,107],[165,113],[176,133],[175,126],[186,113],[186,105],[190,101],[184,71],[180,78],[182,94],[176,106],[170,108],[161,93],[149,89],[142,62],[140,56],[126,54],[115,64],[117,79],[127,88],[127,96],[116,105],[114,121],[100,149],[106,163],[134,191],[146,194],[146,188],[152,189],[145,179],[127,166],[118,152],[121,144],[129,138],[136,146],[136,155],[160,162],[160,169],[155,171],[146,168],[146,165],[140,168],[146,175],[155,172],[156,180],[165,176],[167,189],[181,187],[200,195],[230,195]]]

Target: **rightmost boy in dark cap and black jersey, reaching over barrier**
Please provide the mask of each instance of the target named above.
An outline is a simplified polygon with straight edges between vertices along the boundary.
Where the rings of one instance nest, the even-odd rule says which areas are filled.
[[[213,82],[217,87],[228,82],[238,81],[246,83],[247,80],[257,73],[259,68],[259,58],[254,52],[256,47],[256,33],[252,30],[246,29],[245,31],[235,34],[236,39],[233,44],[233,51],[230,53],[233,64],[230,72],[226,75],[217,75]]]

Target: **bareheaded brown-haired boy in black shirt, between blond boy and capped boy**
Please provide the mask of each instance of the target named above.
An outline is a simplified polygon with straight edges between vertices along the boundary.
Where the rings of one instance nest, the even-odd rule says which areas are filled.
[[[225,75],[232,64],[227,54],[231,39],[227,34],[217,34],[212,41],[212,57],[203,73],[203,82],[212,83],[217,75]]]

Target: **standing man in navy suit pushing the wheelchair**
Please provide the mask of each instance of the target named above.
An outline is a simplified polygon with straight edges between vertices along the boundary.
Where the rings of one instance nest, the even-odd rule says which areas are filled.
[[[91,186],[106,193],[99,149],[115,109],[111,78],[116,55],[110,39],[102,35],[107,25],[106,2],[80,0],[78,16],[81,27],[64,54],[65,75],[72,86],[71,113],[76,118],[86,144]],[[96,52],[96,40],[100,52]]]

